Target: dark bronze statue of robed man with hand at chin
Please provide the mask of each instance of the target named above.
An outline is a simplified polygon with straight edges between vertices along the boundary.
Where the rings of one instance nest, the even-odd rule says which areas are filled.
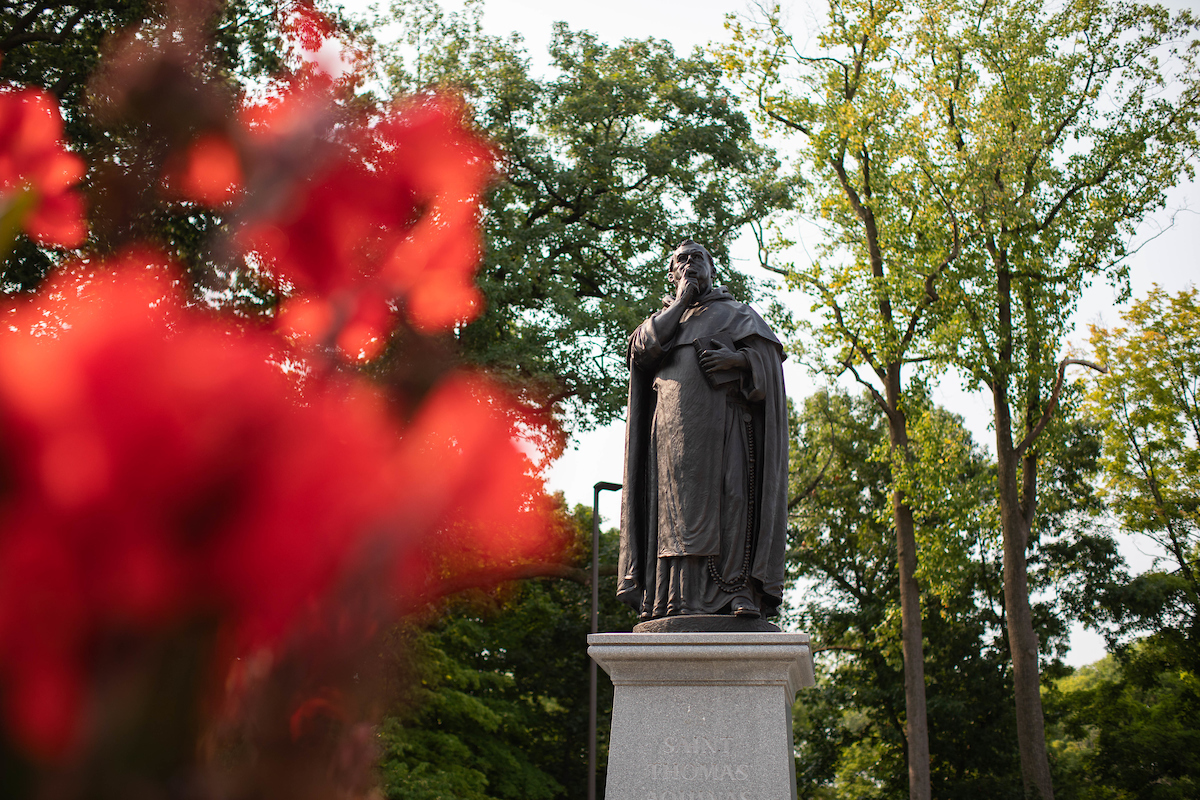
[[[684,241],[629,341],[617,596],[641,620],[773,616],[787,515],[784,348]]]

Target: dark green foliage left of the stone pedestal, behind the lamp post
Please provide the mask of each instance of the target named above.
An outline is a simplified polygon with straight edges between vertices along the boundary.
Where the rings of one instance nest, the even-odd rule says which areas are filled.
[[[590,509],[576,506],[571,563],[586,567]],[[601,536],[601,563],[617,560],[617,531]],[[600,630],[636,619],[600,585]],[[392,663],[408,678],[382,728],[379,762],[389,799],[566,799],[587,794],[590,589],[528,581],[450,603],[427,631],[397,632]],[[612,685],[599,674],[598,796],[604,796]]]

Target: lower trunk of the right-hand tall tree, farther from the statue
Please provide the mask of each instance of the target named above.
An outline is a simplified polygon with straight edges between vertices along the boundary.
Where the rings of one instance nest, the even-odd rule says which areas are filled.
[[[1026,798],[1054,800],[1050,760],[1046,756],[1045,720],[1042,712],[1038,637],[1033,632],[1026,570],[1026,548],[1037,492],[1037,459],[1033,456],[1025,458],[1018,456],[1013,446],[1008,398],[1001,392],[995,399],[996,459],[1000,469],[997,494],[1004,548],[1004,608],[1008,616],[1008,648],[1013,657],[1013,694],[1016,702],[1016,746],[1021,757],[1021,783]],[[1025,488],[1024,498],[1016,481],[1019,462]]]

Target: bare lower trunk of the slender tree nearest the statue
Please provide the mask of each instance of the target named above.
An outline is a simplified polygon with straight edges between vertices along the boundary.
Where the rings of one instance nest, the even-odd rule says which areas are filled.
[[[899,408],[899,365],[888,380],[888,438],[892,452],[908,458],[908,420]],[[908,798],[930,800],[929,723],[925,718],[925,652],[917,585],[917,534],[912,507],[904,492],[892,491],[892,517],[896,529],[896,565],[900,569],[900,636],[904,648],[905,738],[908,742]]]

